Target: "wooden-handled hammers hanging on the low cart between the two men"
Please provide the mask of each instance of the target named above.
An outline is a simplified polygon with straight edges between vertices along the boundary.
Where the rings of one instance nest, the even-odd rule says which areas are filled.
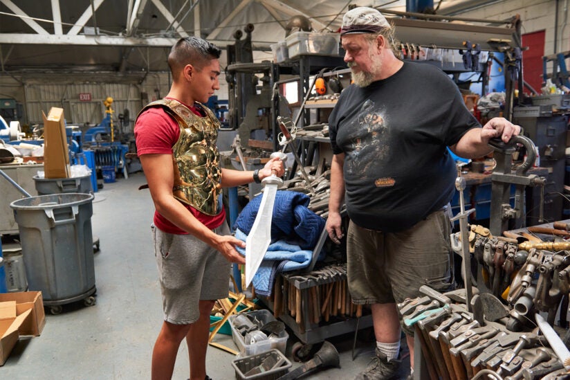
[[[332,264],[306,275],[282,275],[275,281],[273,314],[295,318],[301,331],[305,320],[318,324],[331,317],[362,316],[362,305],[352,303],[347,283],[347,264]]]

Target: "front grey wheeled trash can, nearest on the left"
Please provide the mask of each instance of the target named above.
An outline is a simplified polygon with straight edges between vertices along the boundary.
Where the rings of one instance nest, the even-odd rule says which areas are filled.
[[[84,300],[95,305],[93,195],[64,193],[10,203],[18,224],[30,291],[42,291],[52,314]]]

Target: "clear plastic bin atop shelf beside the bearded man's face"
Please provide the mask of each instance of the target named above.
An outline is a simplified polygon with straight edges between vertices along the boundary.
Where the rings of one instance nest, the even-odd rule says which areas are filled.
[[[296,32],[286,37],[289,58],[301,54],[338,55],[338,33]]]

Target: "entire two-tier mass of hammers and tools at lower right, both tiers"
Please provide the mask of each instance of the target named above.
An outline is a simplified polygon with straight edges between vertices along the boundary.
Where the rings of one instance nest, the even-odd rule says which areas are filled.
[[[528,233],[494,237],[482,226],[469,231],[469,253],[481,267],[479,289],[488,292],[472,288],[467,305],[464,289],[442,294],[424,286],[423,296],[398,305],[404,323],[416,330],[430,378],[570,378],[570,242],[543,242]],[[461,244],[453,234],[454,251]],[[468,273],[473,284],[477,272]],[[562,328],[553,327],[559,307]]]

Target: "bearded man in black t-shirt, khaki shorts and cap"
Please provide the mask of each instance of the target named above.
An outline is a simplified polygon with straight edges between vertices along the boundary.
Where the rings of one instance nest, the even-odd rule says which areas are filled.
[[[378,10],[349,10],[340,35],[354,84],[329,118],[326,228],[338,243],[346,203],[349,290],[355,303],[371,305],[377,341],[375,360],[357,379],[389,379],[400,363],[396,303],[419,296],[423,284],[451,285],[446,210],[457,172],[446,148],[484,156],[490,138],[508,141],[520,127],[493,118],[481,128],[443,71],[398,59],[394,27]],[[402,327],[413,368],[413,330]]]

